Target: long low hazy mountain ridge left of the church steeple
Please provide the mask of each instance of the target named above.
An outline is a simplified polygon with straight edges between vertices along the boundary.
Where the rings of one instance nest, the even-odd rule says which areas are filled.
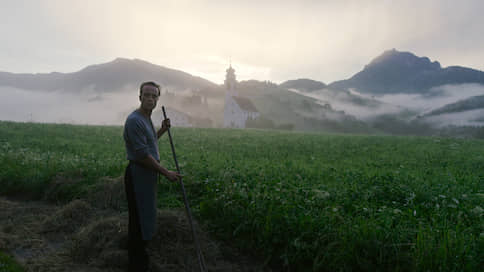
[[[171,89],[213,90],[218,85],[188,73],[139,59],[117,58],[74,73],[14,74],[0,72],[0,86],[25,90],[115,92],[143,81],[156,81]]]

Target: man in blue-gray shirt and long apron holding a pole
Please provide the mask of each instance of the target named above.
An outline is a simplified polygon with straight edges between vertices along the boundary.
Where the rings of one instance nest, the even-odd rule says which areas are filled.
[[[160,96],[155,82],[144,82],[139,89],[140,107],[133,111],[124,125],[124,141],[129,165],[124,180],[128,199],[128,254],[129,271],[146,271],[149,257],[146,245],[156,230],[156,190],[158,174],[171,181],[180,175],[160,165],[158,138],[170,127],[170,120],[162,122],[155,132],[151,112]]]

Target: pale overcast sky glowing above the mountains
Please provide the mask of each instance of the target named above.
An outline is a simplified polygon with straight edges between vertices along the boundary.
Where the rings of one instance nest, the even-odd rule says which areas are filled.
[[[396,48],[484,70],[484,1],[2,0],[0,71],[74,72],[138,58],[221,83],[360,71]]]

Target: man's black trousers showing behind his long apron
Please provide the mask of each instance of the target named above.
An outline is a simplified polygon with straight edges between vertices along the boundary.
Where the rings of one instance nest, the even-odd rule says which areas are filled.
[[[130,165],[124,173],[124,188],[128,199],[128,271],[147,271],[149,266],[149,256],[146,252],[148,241],[143,240],[139,222],[138,208],[134,194],[133,179],[131,176]]]

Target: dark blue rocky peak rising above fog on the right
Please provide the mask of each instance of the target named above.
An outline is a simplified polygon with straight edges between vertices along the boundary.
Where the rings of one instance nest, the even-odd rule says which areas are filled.
[[[432,87],[462,83],[484,84],[484,72],[460,66],[442,68],[439,62],[431,62],[427,57],[392,49],[350,79],[333,82],[329,87],[354,88],[360,93],[379,95],[425,93]]]

